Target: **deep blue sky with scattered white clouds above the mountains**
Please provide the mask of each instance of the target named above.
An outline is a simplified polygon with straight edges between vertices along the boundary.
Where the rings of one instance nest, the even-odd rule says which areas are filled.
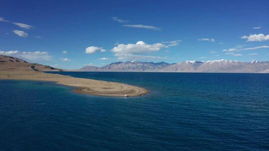
[[[5,0],[0,54],[63,69],[269,60],[269,0]]]

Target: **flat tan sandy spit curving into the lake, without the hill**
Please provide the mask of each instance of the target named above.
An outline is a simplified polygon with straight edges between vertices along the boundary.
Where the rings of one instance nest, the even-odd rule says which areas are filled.
[[[74,89],[77,93],[98,96],[134,97],[141,96],[149,92],[144,88],[124,83],[35,71],[0,71],[0,79],[54,81],[59,84],[78,87]]]

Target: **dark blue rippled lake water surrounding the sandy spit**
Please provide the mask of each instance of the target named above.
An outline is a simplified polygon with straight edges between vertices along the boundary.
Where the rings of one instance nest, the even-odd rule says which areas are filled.
[[[72,73],[151,90],[0,80],[0,151],[268,151],[269,74]]]

